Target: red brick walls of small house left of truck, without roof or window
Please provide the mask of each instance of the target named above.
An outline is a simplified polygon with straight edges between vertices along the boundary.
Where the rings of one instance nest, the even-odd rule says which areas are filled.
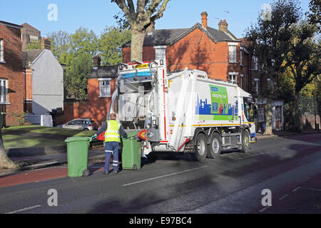
[[[115,90],[116,78],[111,80],[111,94]],[[55,125],[61,125],[76,118],[91,118],[98,125],[106,120],[110,98],[99,97],[98,78],[88,78],[87,83],[88,100],[86,101],[65,101],[63,103],[63,115],[56,115]]]

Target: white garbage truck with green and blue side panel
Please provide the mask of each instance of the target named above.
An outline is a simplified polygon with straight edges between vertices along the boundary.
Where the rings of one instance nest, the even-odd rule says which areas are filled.
[[[167,72],[164,60],[119,63],[109,113],[127,130],[138,130],[141,154],[188,152],[193,160],[221,150],[248,152],[256,141],[253,97],[205,71]]]

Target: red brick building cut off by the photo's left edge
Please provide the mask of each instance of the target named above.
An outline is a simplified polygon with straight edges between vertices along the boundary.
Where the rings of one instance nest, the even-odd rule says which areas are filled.
[[[25,80],[22,70],[21,26],[0,21],[0,107],[5,125],[18,125],[13,113],[24,113]]]

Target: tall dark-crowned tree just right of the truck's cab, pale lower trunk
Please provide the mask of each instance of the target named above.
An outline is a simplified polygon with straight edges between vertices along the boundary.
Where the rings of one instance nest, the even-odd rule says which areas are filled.
[[[250,51],[258,58],[263,71],[267,72],[267,78],[270,78],[270,85],[260,93],[260,98],[267,101],[265,135],[272,135],[272,98],[276,91],[277,75],[287,67],[282,63],[290,43],[289,28],[300,19],[301,9],[295,0],[275,0],[269,14],[268,18],[260,15],[257,24],[251,25],[245,36],[250,43]]]

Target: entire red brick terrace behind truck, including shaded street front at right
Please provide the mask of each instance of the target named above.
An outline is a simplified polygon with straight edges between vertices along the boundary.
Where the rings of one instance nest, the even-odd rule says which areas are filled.
[[[143,43],[143,61],[166,58],[168,71],[184,68],[206,71],[209,78],[237,83],[256,100],[257,130],[264,130],[265,100],[258,93],[268,85],[265,71],[247,50],[244,38],[236,38],[228,23],[220,20],[218,29],[208,26],[208,14],[202,12],[202,24],[191,28],[155,29],[153,25]],[[123,46],[123,62],[131,62],[131,42]],[[272,127],[281,130],[284,124],[282,100],[272,103]]]

